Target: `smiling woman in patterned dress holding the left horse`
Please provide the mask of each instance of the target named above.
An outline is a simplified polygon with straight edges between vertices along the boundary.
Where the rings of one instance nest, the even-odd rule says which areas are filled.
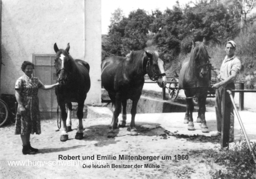
[[[34,64],[24,61],[21,65],[25,75],[15,83],[15,97],[18,102],[18,111],[15,123],[15,134],[20,134],[22,140],[22,153],[35,154],[38,149],[31,147],[30,134],[40,134],[38,89],[53,89],[59,83],[44,85],[38,78],[33,77]]]

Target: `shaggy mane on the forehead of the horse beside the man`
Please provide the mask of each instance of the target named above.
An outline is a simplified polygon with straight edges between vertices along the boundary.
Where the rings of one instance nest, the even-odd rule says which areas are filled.
[[[196,46],[191,50],[190,60],[196,62],[201,58],[209,61],[209,54],[203,42],[196,42]]]

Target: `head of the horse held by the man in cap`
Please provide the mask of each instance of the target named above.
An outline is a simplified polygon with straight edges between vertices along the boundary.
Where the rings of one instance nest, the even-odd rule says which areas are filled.
[[[195,62],[196,73],[201,77],[205,78],[209,74],[209,69],[211,63],[209,61],[209,55],[205,46],[206,40],[203,39],[203,42],[194,42],[192,41],[192,50],[191,50],[191,60]]]

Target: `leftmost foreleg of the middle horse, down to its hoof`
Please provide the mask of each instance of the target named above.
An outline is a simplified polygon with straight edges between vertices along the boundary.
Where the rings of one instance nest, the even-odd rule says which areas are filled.
[[[111,129],[110,131],[108,131],[108,138],[110,137],[115,137],[115,129],[117,128],[117,120],[118,120],[118,116],[121,112],[121,108],[122,108],[122,104],[121,101],[119,100],[119,98],[116,99],[116,109],[113,112],[113,117],[112,117],[112,122],[111,122]]]

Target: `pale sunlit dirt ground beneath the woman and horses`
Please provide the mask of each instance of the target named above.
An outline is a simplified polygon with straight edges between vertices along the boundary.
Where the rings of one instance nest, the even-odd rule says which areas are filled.
[[[212,173],[223,171],[225,168],[214,163],[214,159],[205,156],[193,155],[196,150],[213,149],[220,150],[217,142],[207,142],[205,140],[191,141],[184,138],[177,139],[173,134],[189,134],[187,125],[182,121],[172,122],[180,118],[183,114],[138,114],[135,124],[139,132],[138,136],[130,136],[129,128],[130,115],[127,116],[125,128],[116,130],[117,137],[107,138],[111,117],[89,117],[84,119],[84,139],[76,140],[76,120],[72,119],[72,132],[69,132],[69,140],[60,142],[60,131],[56,130],[57,120],[43,120],[41,122],[42,134],[31,135],[31,144],[39,148],[35,155],[23,155],[21,152],[21,140],[19,135],[13,135],[14,126],[0,128],[2,134],[0,146],[0,178],[212,178]],[[196,115],[196,114],[195,114]],[[212,116],[211,114],[208,114]],[[149,118],[153,118],[149,120]],[[173,119],[174,121],[174,119]],[[177,121],[177,120],[176,120]],[[212,124],[214,122],[212,121]],[[210,125],[210,123],[209,123]],[[174,127],[175,126],[175,127]],[[203,134],[200,125],[195,123],[196,134]],[[216,127],[216,126],[215,126]],[[215,127],[209,127],[214,130]],[[184,131],[184,132],[183,132]],[[210,135],[207,133],[206,135]],[[198,152],[197,152],[198,153]],[[59,160],[59,156],[72,157],[80,156],[75,160]],[[97,155],[110,157],[109,159],[97,160]],[[119,159],[119,155],[156,157],[150,161],[145,160],[124,160]],[[176,155],[176,159],[175,159]],[[188,160],[178,160],[178,155],[187,157]],[[187,156],[186,156],[187,155]],[[83,157],[89,156],[87,160]],[[91,158],[94,156],[94,159]],[[158,157],[159,156],[159,157]],[[171,157],[171,158],[168,158]],[[116,157],[116,160],[114,158]],[[158,157],[158,158],[157,158]],[[162,158],[163,157],[163,158]],[[165,157],[165,159],[164,159]],[[24,166],[9,166],[12,161],[23,161]],[[71,162],[60,164],[60,162]],[[80,163],[79,163],[80,161]],[[95,165],[109,165],[109,168],[83,168],[82,162],[92,167]],[[9,162],[9,163],[8,163]],[[56,163],[57,162],[57,163]],[[59,163],[58,163],[59,162]],[[73,163],[72,163],[73,162]],[[78,163],[77,163],[78,162]],[[99,163],[98,163],[99,162]],[[100,163],[101,162],[101,163]],[[57,166],[56,166],[57,164]],[[76,165],[78,164],[78,165]],[[131,168],[112,168],[112,165],[132,165]],[[159,168],[146,168],[145,164],[153,164]],[[69,166],[68,166],[69,165]],[[141,166],[136,168],[135,165]]]

